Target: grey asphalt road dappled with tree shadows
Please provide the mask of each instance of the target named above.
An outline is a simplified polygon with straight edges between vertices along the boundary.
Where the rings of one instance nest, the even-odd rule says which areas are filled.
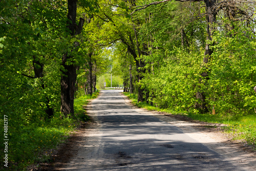
[[[136,112],[118,90],[92,102],[98,125],[66,170],[243,170],[178,127]]]

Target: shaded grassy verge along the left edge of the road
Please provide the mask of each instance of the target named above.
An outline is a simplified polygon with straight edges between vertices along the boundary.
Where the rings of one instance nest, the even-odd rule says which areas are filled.
[[[84,95],[74,100],[75,116],[61,117],[55,114],[52,119],[40,120],[29,125],[16,128],[16,135],[10,136],[8,154],[10,170],[26,170],[26,167],[40,162],[51,162],[56,147],[65,142],[81,122],[88,121],[83,105],[89,99],[96,98],[99,92],[92,96]]]

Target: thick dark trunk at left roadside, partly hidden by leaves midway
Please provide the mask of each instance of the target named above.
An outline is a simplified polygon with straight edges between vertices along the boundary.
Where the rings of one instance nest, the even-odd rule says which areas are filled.
[[[81,33],[84,19],[80,18],[78,26],[76,25],[76,10],[77,10],[77,0],[68,0],[68,28],[70,30],[70,35],[74,36]],[[79,46],[75,42],[75,47]],[[61,65],[65,71],[61,71],[60,79],[60,91],[61,91],[61,106],[60,112],[65,116],[74,113],[74,96],[75,96],[75,86],[76,86],[76,69],[75,63],[69,63],[67,65],[67,59],[71,59],[73,56],[68,56],[68,52],[62,55]]]

